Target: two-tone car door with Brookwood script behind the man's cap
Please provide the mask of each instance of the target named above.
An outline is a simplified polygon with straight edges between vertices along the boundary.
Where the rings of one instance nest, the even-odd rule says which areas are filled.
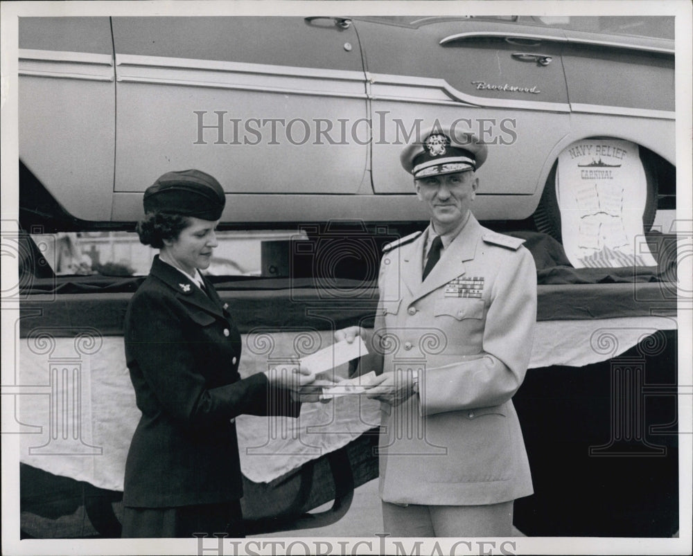
[[[489,144],[477,217],[531,215],[550,153],[569,127],[561,31],[516,17],[355,18],[354,24],[374,120],[376,194],[413,191],[399,164],[412,129],[459,122]]]

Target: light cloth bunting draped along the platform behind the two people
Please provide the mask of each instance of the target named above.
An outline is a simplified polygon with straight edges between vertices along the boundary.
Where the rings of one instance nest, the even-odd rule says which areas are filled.
[[[604,361],[657,330],[674,329],[675,318],[656,316],[539,322],[529,367]],[[327,331],[274,332],[272,346],[264,341],[268,334],[244,335],[241,375],[265,370],[274,355],[290,352],[306,334],[314,337],[307,352],[331,343]],[[30,392],[18,396],[17,419],[33,432],[21,435],[21,463],[123,490],[125,457],[140,416],[123,338],[103,337],[85,346],[71,338],[49,341],[47,334],[35,334],[22,339],[19,358],[19,383],[30,386]],[[346,376],[346,367],[337,368],[335,375]],[[299,419],[241,415],[236,419],[241,470],[255,483],[273,481],[347,445],[379,422],[380,404],[365,396],[304,404]]]

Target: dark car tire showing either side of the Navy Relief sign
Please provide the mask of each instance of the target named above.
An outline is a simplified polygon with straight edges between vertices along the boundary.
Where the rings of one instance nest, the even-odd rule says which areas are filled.
[[[642,163],[645,181],[647,183],[647,199],[645,200],[645,208],[642,213],[642,226],[647,233],[652,228],[654,217],[657,212],[659,184],[657,172],[655,170],[656,165],[654,156],[642,147],[640,147],[640,162]],[[556,171],[558,170],[558,165],[559,161],[556,159],[546,178],[541,199],[539,200],[539,204],[532,218],[534,219],[534,225],[537,231],[547,233],[554,237],[554,239],[562,242],[561,210],[559,209],[559,201],[556,198]]]

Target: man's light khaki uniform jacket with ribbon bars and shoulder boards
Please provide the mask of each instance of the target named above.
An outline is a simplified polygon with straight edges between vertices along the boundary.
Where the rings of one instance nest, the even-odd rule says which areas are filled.
[[[382,404],[380,495],[478,505],[532,494],[511,402],[532,350],[532,255],[470,215],[422,283],[425,236],[386,251],[380,267],[371,348],[384,370],[419,370],[418,394]]]

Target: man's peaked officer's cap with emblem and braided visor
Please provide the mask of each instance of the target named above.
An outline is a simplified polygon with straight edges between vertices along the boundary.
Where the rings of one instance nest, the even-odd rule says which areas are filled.
[[[487,154],[488,148],[471,129],[434,126],[421,134],[420,141],[405,147],[400,162],[414,179],[422,179],[476,170]]]

